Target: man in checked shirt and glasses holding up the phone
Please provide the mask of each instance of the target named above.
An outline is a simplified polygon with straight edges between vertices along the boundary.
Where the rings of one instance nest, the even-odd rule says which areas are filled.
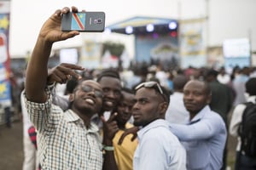
[[[73,7],[73,12],[78,8]],[[38,130],[38,151],[42,169],[117,169],[113,152],[102,156],[102,141],[99,129],[90,121],[91,116],[102,109],[103,91],[99,83],[80,81],[70,95],[69,109],[62,111],[52,103],[52,94],[47,87],[47,63],[54,42],[79,35],[78,31],[61,31],[61,15],[70,8],[55,11],[44,23],[38,36],[26,70],[25,102],[30,120]],[[79,65],[67,64],[55,77],[56,82],[66,82],[70,77],[80,78],[74,70],[83,70]],[[112,144],[116,123],[105,122],[103,144]],[[104,149],[104,148],[103,148]]]

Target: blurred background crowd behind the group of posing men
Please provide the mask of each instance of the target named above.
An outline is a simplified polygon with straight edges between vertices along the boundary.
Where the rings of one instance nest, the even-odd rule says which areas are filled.
[[[49,68],[50,69],[50,68]],[[148,65],[146,63],[131,65],[129,69],[122,68],[112,68],[111,70],[117,71],[119,73],[120,82],[123,88],[129,88],[134,90],[138,84],[142,82],[154,81],[159,82],[162,87],[165,87],[170,92],[170,105],[168,110],[166,111],[166,120],[168,122],[174,123],[184,123],[189,117],[188,111],[185,110],[183,103],[177,103],[177,101],[181,101],[182,97],[175,98],[178,93],[183,92],[183,86],[189,80],[201,80],[207,82],[218,82],[223,84],[226,88],[224,91],[221,91],[221,88],[218,87],[218,90],[214,91],[212,94],[212,110],[218,112],[223,118],[228,129],[228,121],[227,117],[236,105],[242,104],[247,101],[248,94],[246,93],[245,84],[246,82],[252,78],[256,77],[256,69],[255,67],[243,67],[240,68],[236,66],[233,71],[227,72],[224,67],[214,69],[214,68],[194,68],[189,67],[186,69],[172,69],[172,70],[164,70],[161,65]],[[21,113],[21,105],[20,105],[20,94],[24,89],[24,81],[25,81],[25,71],[20,70],[15,71],[15,74],[11,77],[11,85],[12,85],[12,115],[22,117]],[[101,74],[102,70],[86,70],[86,71],[78,71],[78,74],[85,79],[93,79],[96,80]],[[214,85],[213,85],[214,86]],[[55,84],[55,93],[64,99],[68,99],[68,94],[71,94],[73,90],[73,79],[67,83],[56,83]],[[218,92],[216,92],[218,91]],[[226,98],[224,99],[224,92],[230,91]],[[216,93],[216,94],[214,94]],[[223,105],[219,105],[219,96],[222,96],[221,103]],[[171,97],[172,96],[172,97]],[[173,99],[172,99],[173,98]],[[177,109],[179,108],[179,109]],[[180,109],[183,108],[183,109]],[[177,114],[170,114],[172,112],[176,112]],[[26,117],[25,117],[26,118]],[[24,119],[24,116],[23,116]],[[132,116],[130,122],[132,123]],[[26,122],[26,120],[25,120]],[[11,122],[8,124],[11,127]],[[25,136],[24,138],[27,141],[25,143],[30,142],[29,139],[32,136],[32,133],[35,133],[35,129],[32,133],[27,133],[27,129],[30,126],[26,126]],[[28,150],[34,150],[35,148],[31,146]],[[33,153],[35,156],[35,153]],[[226,167],[226,157],[227,150],[224,151],[224,167]],[[36,156],[35,156],[36,157]],[[38,160],[37,160],[38,161]],[[26,169],[26,167],[25,167]]]

